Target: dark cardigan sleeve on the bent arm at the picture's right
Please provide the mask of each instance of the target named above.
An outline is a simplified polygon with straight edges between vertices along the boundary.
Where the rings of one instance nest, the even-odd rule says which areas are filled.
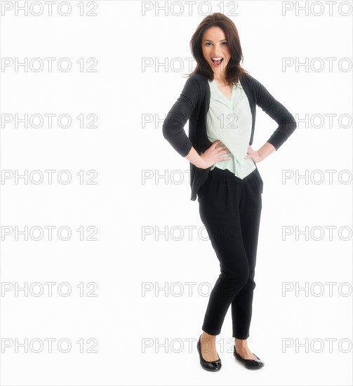
[[[256,94],[256,104],[269,115],[274,121],[277,122],[278,127],[269,137],[269,142],[276,150],[283,145],[288,137],[295,131],[297,123],[293,115],[288,112],[288,109],[284,107],[278,100],[267,91],[258,80],[253,78]]]

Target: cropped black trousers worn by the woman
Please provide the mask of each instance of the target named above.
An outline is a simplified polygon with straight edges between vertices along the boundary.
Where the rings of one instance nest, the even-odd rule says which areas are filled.
[[[243,180],[215,167],[198,192],[201,221],[220,261],[202,330],[221,331],[232,304],[233,337],[246,339],[251,323],[263,182],[256,167]]]

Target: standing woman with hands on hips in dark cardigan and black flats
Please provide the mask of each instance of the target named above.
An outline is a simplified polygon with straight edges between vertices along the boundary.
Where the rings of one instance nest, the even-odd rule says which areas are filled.
[[[297,125],[286,107],[241,67],[239,34],[227,16],[204,18],[190,48],[197,67],[168,112],[163,135],[189,161],[191,200],[198,196],[201,221],[220,261],[197,342],[200,364],[220,370],[216,337],[231,306],[234,357],[246,368],[262,368],[264,362],[247,342],[262,208],[256,164],[279,149]],[[251,147],[256,105],[278,124],[258,150]],[[189,136],[184,130],[188,120]]]

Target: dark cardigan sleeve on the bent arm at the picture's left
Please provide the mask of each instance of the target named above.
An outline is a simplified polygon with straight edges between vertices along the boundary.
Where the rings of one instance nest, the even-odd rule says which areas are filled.
[[[192,142],[185,133],[184,126],[194,112],[201,95],[198,82],[189,77],[180,93],[180,97],[171,107],[163,123],[162,133],[164,138],[182,156],[189,154]]]

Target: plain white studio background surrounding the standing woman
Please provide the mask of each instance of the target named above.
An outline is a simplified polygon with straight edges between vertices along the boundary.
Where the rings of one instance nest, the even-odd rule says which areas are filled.
[[[152,9],[142,15],[140,1],[84,1],[83,16],[79,1],[69,1],[67,16],[58,13],[60,1],[51,16],[48,6],[38,16],[15,15],[15,8],[4,11],[5,3],[24,1],[2,1],[2,60],[55,61],[52,72],[1,63],[1,117],[69,114],[72,126],[16,128],[2,120],[3,173],[37,170],[45,180],[1,179],[1,385],[352,385],[352,182],[345,183],[352,178],[352,68],[345,71],[349,60],[352,65],[352,1],[333,2],[331,9],[327,1],[309,1],[307,15],[295,12],[304,1],[237,1],[237,15],[230,13],[234,2],[222,2],[237,25],[244,68],[288,108],[298,128],[258,164],[264,191],[248,342],[265,367],[251,372],[232,356],[229,312],[218,336],[223,366],[214,374],[199,365],[196,341],[218,260],[203,239],[198,203],[190,200],[189,162],[164,140],[161,126],[183,75],[193,69],[189,40],[207,6],[217,12],[221,2],[194,5],[190,14],[182,2],[180,15],[175,2],[168,2],[168,15],[158,8],[164,1],[145,2]],[[95,4],[97,15],[88,17]],[[71,60],[69,72],[58,69],[60,58]],[[96,58],[98,71],[87,72],[86,64],[80,72],[80,58]],[[284,58],[307,58],[309,67],[284,68]],[[326,58],[335,58],[332,69]],[[143,69],[143,60],[152,65]],[[254,149],[277,127],[257,111]],[[95,114],[98,127],[80,128],[80,114]],[[338,119],[344,114],[350,126]],[[153,121],[142,124],[143,117]],[[56,171],[52,184],[46,170]],[[67,185],[57,179],[63,170],[72,174]],[[98,173],[97,184],[86,183],[87,171]],[[282,180],[284,171],[293,178]],[[308,180],[295,180],[305,173]],[[4,235],[26,226],[53,226],[53,239]],[[62,226],[72,230],[67,241],[58,238]],[[88,227],[98,229],[96,241],[86,240]],[[284,227],[294,233],[283,237]],[[307,237],[295,237],[295,227],[307,229]],[[36,282],[42,295],[32,286],[27,296],[16,296],[17,284]],[[52,296],[47,282],[55,283]],[[63,282],[70,295],[58,293]],[[88,283],[95,283],[97,296],[87,296]],[[284,285],[293,290],[283,293]],[[295,293],[305,286],[307,293]],[[55,339],[51,353],[48,345],[37,353],[38,346],[15,348],[16,339],[48,338]],[[72,343],[67,353],[58,349],[62,338]],[[89,339],[98,342],[96,353],[87,352]]]

